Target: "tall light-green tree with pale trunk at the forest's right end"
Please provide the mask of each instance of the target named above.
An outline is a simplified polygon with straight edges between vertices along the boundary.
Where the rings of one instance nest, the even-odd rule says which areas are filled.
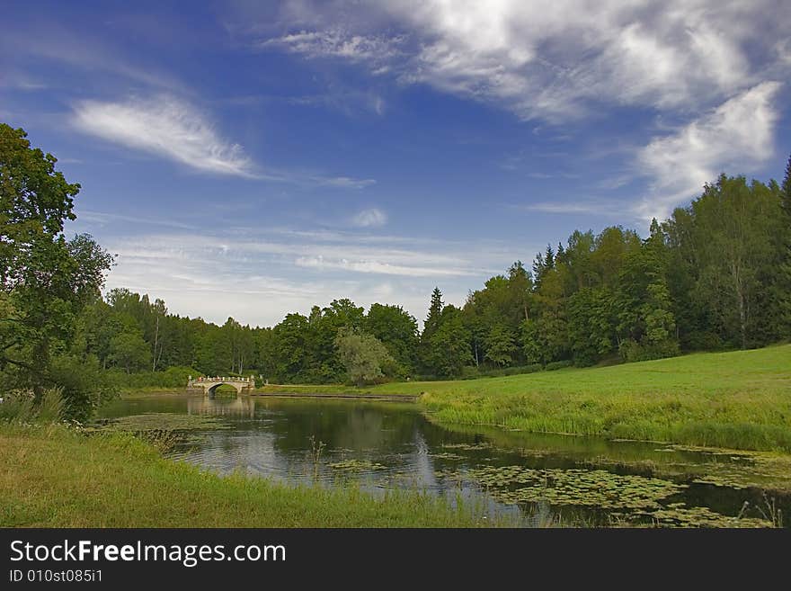
[[[689,261],[687,284],[698,309],[689,324],[742,348],[778,338],[772,293],[780,279],[775,253],[781,212],[777,184],[724,175],[686,212],[674,212],[668,228],[680,241],[680,257]]]

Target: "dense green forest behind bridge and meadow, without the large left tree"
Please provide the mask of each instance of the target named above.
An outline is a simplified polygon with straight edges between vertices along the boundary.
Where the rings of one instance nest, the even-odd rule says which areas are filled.
[[[278,383],[347,378],[343,341],[384,345],[379,380],[458,378],[754,348],[791,337],[791,160],[784,183],[720,176],[648,237],[575,231],[530,268],[515,262],[458,308],[440,289],[422,331],[400,306],[348,299],[275,327],[169,314],[124,289],[86,307],[75,354],[124,372],[254,373]],[[262,301],[262,306],[266,302]],[[348,339],[346,341],[348,343]],[[182,378],[181,373],[179,379]]]

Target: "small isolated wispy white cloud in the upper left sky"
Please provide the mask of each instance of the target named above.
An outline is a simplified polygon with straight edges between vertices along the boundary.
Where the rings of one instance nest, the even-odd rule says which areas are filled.
[[[84,101],[76,105],[73,122],[85,133],[201,171],[253,176],[253,163],[241,146],[220,138],[200,112],[172,96]]]

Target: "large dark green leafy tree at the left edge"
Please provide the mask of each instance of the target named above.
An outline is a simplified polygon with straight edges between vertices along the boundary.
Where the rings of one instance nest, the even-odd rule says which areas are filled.
[[[0,372],[7,387],[32,390],[42,403],[46,389],[62,385],[53,360],[69,349],[112,257],[90,236],[63,235],[80,185],[26,136],[0,124]],[[88,407],[69,399],[74,392],[63,390],[67,411],[82,416]]]

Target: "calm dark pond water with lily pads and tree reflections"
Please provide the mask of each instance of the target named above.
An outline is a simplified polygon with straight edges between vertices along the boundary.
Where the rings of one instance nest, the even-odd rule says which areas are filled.
[[[219,417],[168,455],[222,474],[353,482],[374,494],[417,489],[528,525],[761,526],[791,515],[788,494],[756,486],[767,470],[746,453],[449,430],[431,423],[419,405],[399,402],[161,395],[122,398],[102,409],[108,419],[149,413]]]

